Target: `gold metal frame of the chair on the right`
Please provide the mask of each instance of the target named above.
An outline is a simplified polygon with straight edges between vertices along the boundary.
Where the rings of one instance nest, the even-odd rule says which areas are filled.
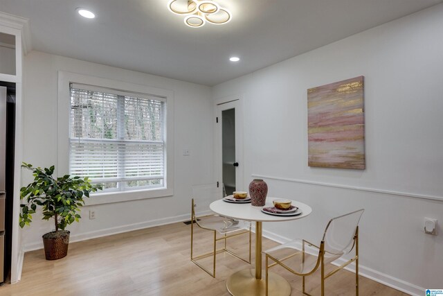
[[[358,210],[358,211],[361,211],[361,210]],[[354,214],[358,211],[353,211],[352,213],[345,214],[343,216]],[[339,216],[336,218],[341,218],[343,216]],[[334,219],[336,219],[336,218],[334,218]],[[334,220],[334,219],[332,219],[332,220]],[[332,223],[332,220],[329,220],[329,223],[327,224],[327,227],[325,229],[325,234],[327,232],[327,228]],[[310,247],[316,247],[318,249],[318,257],[317,257],[316,265],[314,266],[314,268],[311,271],[306,272],[306,273],[300,273],[300,272],[297,272],[296,270],[293,270],[288,265],[284,264],[283,261],[286,261],[287,259],[290,259],[293,256],[296,256],[301,253],[302,254],[302,264],[303,264],[305,262],[305,254],[308,254],[305,252],[305,244],[309,245]],[[326,275],[325,275],[325,254],[329,253],[329,254],[333,254],[333,255],[340,255],[340,256],[338,256],[338,258],[341,257],[343,254],[334,254],[332,252],[325,251],[325,235],[323,236],[323,240],[320,242],[319,247],[317,245],[314,245],[313,243],[310,243],[309,241],[306,241],[303,239],[302,240],[302,250],[295,252],[289,256],[285,256],[282,259],[275,259],[273,256],[265,253],[266,254],[266,296],[268,296],[268,270],[269,270],[269,268],[271,268],[275,265],[280,265],[283,268],[285,268],[286,270],[288,270],[289,272],[293,273],[294,275],[298,275],[298,276],[302,277],[302,293],[304,295],[308,295],[308,296],[312,296],[312,295],[306,292],[305,277],[316,272],[318,270],[318,267],[320,266],[320,273],[321,273],[320,289],[321,289],[321,296],[324,296],[325,295],[325,279],[327,279],[328,277],[331,277],[336,272],[345,268],[347,265],[349,265],[350,263],[352,263],[354,261],[355,261],[355,295],[359,296],[359,225],[358,224],[356,225],[352,247],[350,248],[349,252],[347,252],[347,253],[350,253],[352,251],[352,249],[354,249],[354,247],[355,247],[355,256],[352,257],[351,259],[349,259],[348,261],[346,261],[345,263],[334,268],[334,270],[332,270],[331,272],[328,272]],[[274,263],[269,265],[269,259],[273,260]]]

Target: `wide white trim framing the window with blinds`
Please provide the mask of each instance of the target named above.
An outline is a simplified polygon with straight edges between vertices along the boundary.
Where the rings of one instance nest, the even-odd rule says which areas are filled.
[[[137,85],[131,82],[87,76],[79,73],[58,71],[58,112],[57,112],[57,175],[69,173],[69,108],[71,106],[70,83],[80,83],[111,89],[122,89],[127,92],[150,94],[165,98],[165,188],[140,189],[96,193],[85,200],[87,205],[125,202],[147,198],[160,198],[174,194],[174,92],[169,89]],[[100,191],[99,191],[100,192]]]

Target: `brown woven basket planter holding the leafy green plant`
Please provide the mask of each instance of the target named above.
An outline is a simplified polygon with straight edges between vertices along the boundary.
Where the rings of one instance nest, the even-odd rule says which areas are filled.
[[[48,232],[42,238],[46,260],[57,260],[68,254],[69,230]]]

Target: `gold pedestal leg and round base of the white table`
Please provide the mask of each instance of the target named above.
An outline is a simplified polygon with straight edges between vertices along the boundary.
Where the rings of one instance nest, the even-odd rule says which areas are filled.
[[[291,286],[286,279],[273,272],[268,272],[269,295],[289,296]],[[226,288],[233,296],[265,295],[266,286],[262,279],[262,222],[255,223],[255,270],[240,270],[228,278]]]

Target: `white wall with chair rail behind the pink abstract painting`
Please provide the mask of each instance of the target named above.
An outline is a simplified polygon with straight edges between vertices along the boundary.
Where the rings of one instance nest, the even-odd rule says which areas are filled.
[[[443,227],[423,227],[443,225],[442,29],[440,4],[213,88],[244,96],[246,183],[264,176],[270,196],[313,208],[265,223],[269,236],[319,240],[329,218],[365,208],[361,273],[416,295],[441,284]],[[367,168],[308,167],[307,89],[360,75]]]

